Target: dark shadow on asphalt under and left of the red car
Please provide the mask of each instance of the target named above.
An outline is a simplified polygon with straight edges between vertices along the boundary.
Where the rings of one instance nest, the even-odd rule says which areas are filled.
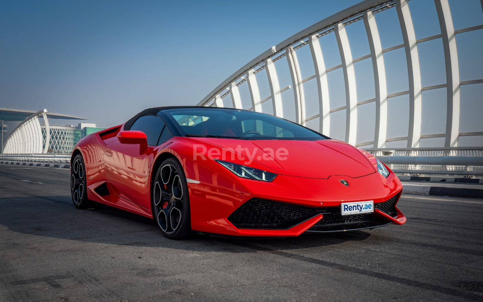
[[[165,238],[153,219],[110,206],[78,210],[70,196],[0,198],[0,206],[0,225],[23,235],[192,251],[247,253],[290,250],[363,241],[371,235],[368,231],[311,233],[298,237],[198,235],[180,241]],[[8,240],[13,243],[15,237],[9,236]]]

